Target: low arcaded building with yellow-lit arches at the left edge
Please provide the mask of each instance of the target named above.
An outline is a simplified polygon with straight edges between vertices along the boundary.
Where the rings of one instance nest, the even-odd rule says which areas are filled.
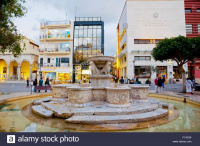
[[[0,80],[34,80],[37,78],[39,46],[24,37],[21,47],[25,49],[18,57],[6,52],[0,54]]]

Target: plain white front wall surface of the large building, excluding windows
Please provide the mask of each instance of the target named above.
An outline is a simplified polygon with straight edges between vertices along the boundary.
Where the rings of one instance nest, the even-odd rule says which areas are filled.
[[[123,16],[125,17],[125,16]],[[134,39],[164,39],[165,37],[186,36],[184,1],[127,1],[127,68],[128,77],[134,75],[135,66],[167,66],[168,77],[170,72],[168,62],[136,61],[134,56],[151,56],[151,52],[144,53],[144,50],[152,51],[155,44],[134,44]],[[140,50],[136,52],[133,50]],[[187,71],[187,67],[185,68]],[[153,74],[153,78],[156,74]]]

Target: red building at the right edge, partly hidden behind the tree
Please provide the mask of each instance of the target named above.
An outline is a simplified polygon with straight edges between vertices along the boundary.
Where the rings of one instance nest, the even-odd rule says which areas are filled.
[[[185,0],[186,36],[200,36],[200,0]],[[188,75],[200,82],[200,60],[188,63]]]

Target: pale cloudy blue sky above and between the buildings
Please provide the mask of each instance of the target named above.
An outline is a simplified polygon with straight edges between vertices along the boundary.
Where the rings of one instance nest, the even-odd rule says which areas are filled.
[[[40,23],[71,20],[76,17],[101,17],[104,21],[105,55],[114,56],[117,48],[117,25],[125,0],[26,0],[27,13],[15,18],[19,32],[39,45]]]

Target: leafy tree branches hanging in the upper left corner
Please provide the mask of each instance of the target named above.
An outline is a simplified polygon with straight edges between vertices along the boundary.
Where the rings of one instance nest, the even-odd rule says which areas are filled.
[[[23,36],[18,34],[12,18],[25,15],[26,8],[22,6],[25,0],[0,1],[0,53],[10,52],[15,57],[23,51],[21,41]]]

